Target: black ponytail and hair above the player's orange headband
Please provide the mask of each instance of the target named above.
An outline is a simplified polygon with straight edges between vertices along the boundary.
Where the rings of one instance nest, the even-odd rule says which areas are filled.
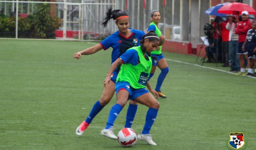
[[[128,16],[128,14],[126,12],[123,12],[122,10],[112,10],[112,7],[110,7],[109,10],[106,12],[106,16],[102,23],[103,27],[105,28],[108,25],[110,19],[113,18],[115,20],[120,16]]]

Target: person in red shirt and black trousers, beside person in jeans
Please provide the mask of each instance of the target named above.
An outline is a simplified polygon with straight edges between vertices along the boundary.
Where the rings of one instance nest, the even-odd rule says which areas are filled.
[[[228,50],[228,44],[229,44],[229,30],[226,29],[227,23],[229,23],[229,19],[223,17],[223,22],[219,24],[219,27],[221,29],[221,39],[222,39],[222,62],[223,67],[229,66],[229,50]]]

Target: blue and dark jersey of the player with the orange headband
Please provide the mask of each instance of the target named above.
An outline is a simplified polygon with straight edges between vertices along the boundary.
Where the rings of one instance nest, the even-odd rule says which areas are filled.
[[[100,42],[101,46],[104,50],[112,47],[111,54],[111,64],[116,61],[118,57],[120,57],[124,52],[134,46],[140,45],[140,40],[142,36],[145,34],[143,31],[130,29],[131,35],[129,37],[125,37],[116,31],[115,33],[108,36],[106,39]],[[120,69],[120,66],[117,67],[117,70]]]

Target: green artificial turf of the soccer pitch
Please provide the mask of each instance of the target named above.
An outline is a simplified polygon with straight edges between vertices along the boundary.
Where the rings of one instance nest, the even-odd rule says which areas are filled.
[[[73,59],[90,42],[0,40],[0,149],[125,149],[100,135],[116,98],[84,132],[76,127],[100,99],[111,63],[111,49]],[[230,132],[243,132],[256,149],[256,78],[237,76],[221,64],[195,56],[163,52],[169,73],[161,87],[160,109],[151,135],[157,146],[137,140],[130,149],[225,150]],[[184,63],[186,62],[186,63]],[[196,64],[196,65],[195,65]],[[218,70],[216,70],[218,69]],[[219,71],[223,70],[223,71]],[[158,74],[150,80],[155,87]],[[124,127],[128,105],[115,121]],[[138,106],[132,129],[143,129],[147,107]]]

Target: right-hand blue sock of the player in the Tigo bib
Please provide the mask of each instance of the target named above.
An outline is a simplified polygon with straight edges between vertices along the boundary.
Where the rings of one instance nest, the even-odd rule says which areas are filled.
[[[158,109],[155,109],[155,108],[149,108],[147,110],[145,125],[141,132],[142,134],[149,134],[150,129],[156,120],[157,112],[158,112]]]

